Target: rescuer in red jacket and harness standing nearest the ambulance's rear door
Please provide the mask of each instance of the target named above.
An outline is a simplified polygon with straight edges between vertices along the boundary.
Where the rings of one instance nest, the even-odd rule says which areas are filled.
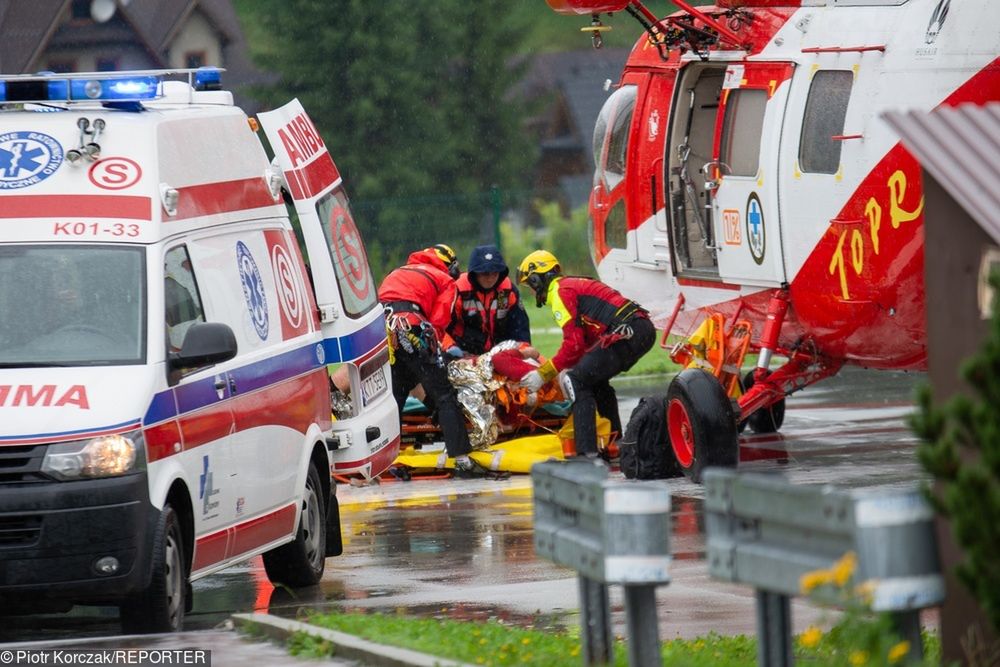
[[[458,275],[455,252],[444,244],[411,253],[378,288],[385,308],[392,348],[392,393],[402,420],[406,397],[423,385],[428,407],[437,409],[448,456],[458,471],[475,469],[472,446],[455,388],[448,381],[444,350],[452,346],[446,333],[455,308]]]

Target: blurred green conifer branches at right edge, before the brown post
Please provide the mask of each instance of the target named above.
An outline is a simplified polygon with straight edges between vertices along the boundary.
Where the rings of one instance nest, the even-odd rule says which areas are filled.
[[[1000,275],[990,283],[1000,290]],[[917,456],[937,482],[928,497],[962,547],[957,575],[1000,630],[1000,301],[982,347],[960,372],[971,394],[935,407],[921,387],[910,423],[923,441]]]

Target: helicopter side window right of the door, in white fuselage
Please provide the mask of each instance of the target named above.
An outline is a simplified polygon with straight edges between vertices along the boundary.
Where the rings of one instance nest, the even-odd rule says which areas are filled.
[[[840,169],[841,142],[854,73],[847,70],[816,72],[802,118],[799,166],[803,172],[835,174]]]

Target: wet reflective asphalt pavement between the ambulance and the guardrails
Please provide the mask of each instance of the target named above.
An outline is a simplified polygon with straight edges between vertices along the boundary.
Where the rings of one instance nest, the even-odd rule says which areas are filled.
[[[922,374],[847,369],[810,387],[788,400],[780,434],[741,439],[741,469],[778,470],[796,483],[912,484],[922,473],[905,417],[913,409],[914,387],[923,379]],[[665,391],[662,378],[616,386],[623,422],[640,396]],[[657,592],[660,637],[713,630],[753,633],[753,591],[707,576],[702,487],[686,479],[667,483],[674,561],[673,581]],[[294,594],[274,589],[260,559],[254,559],[195,583],[187,632],[124,641],[214,649],[216,667],[301,665],[277,647],[216,628],[234,612],[295,618],[310,608],[496,618],[542,627],[578,623],[575,574],[535,556],[529,476],[342,485],[338,496],[345,553],[327,561],[319,586]],[[620,587],[611,590],[612,621],[623,633]],[[792,615],[796,631],[810,622],[829,622],[825,612],[801,602],[793,603]],[[117,632],[117,617],[109,609],[0,617],[4,648],[11,642],[53,645],[81,637],[87,645],[106,647],[121,641],[108,638]]]

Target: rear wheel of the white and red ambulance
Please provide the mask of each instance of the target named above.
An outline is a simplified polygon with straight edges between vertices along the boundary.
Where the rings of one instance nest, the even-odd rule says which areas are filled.
[[[326,505],[315,464],[309,465],[295,540],[264,554],[264,570],[272,584],[312,586],[326,564]]]

